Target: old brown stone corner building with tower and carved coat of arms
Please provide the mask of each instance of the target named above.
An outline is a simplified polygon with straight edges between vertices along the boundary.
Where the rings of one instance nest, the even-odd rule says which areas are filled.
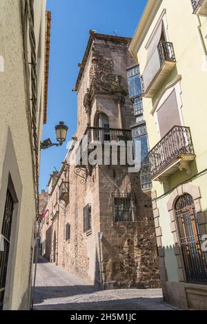
[[[78,127],[103,144],[132,140],[135,121],[128,98],[126,68],[134,61],[131,39],[90,32],[75,86]],[[86,145],[87,146],[87,145]],[[159,287],[155,225],[150,199],[141,190],[140,174],[128,165],[70,165],[71,148],[54,185],[49,186],[48,223],[52,227],[50,261],[104,289]],[[118,159],[119,160],[119,159]]]

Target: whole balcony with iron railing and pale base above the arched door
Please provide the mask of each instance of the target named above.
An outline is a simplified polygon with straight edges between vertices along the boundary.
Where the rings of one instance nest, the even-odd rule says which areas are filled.
[[[190,128],[175,126],[149,153],[152,181],[168,183],[177,170],[190,175],[190,161],[195,159]]]

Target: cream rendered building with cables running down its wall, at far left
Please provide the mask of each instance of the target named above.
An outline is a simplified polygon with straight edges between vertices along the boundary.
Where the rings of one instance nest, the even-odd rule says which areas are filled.
[[[50,12],[45,0],[1,0],[0,310],[27,310],[47,115]]]

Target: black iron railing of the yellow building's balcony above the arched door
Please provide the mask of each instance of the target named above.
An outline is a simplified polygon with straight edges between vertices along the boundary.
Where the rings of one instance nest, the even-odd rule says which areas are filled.
[[[174,126],[149,153],[151,176],[161,172],[181,154],[195,154],[190,128]]]

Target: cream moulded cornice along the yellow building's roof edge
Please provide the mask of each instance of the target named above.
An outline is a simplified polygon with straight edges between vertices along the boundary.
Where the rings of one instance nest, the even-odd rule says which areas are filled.
[[[136,61],[137,52],[139,51],[139,48],[141,47],[141,44],[143,43],[146,37],[146,33],[148,32],[161,3],[162,0],[148,0],[148,3],[144,10],[144,14],[142,15],[141,20],[139,21],[139,25],[137,26],[137,30],[135,31],[135,34],[132,38],[129,47],[129,51]]]

